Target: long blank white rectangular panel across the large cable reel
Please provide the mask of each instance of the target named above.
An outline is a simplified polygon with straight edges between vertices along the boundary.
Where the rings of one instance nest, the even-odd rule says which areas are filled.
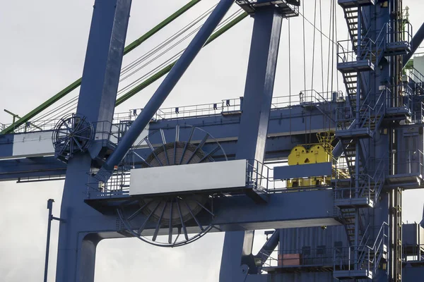
[[[131,170],[129,195],[246,186],[246,160],[217,161]]]

